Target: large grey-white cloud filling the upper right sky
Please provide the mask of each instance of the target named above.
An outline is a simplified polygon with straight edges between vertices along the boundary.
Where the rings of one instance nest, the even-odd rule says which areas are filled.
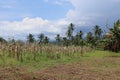
[[[66,14],[69,20],[92,26],[107,19],[115,21],[120,18],[120,0],[70,0],[74,6]],[[77,23],[76,23],[77,22]]]

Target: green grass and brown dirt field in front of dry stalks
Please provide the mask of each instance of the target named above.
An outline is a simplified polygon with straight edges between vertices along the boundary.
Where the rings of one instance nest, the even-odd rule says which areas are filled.
[[[85,49],[74,53],[65,49],[70,54],[25,53],[22,61],[1,52],[0,80],[120,80],[119,53]]]

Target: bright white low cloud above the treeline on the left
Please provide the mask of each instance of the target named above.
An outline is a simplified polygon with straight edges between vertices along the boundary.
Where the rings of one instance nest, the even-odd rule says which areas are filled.
[[[40,17],[24,18],[22,21],[0,21],[0,36],[9,38],[18,35],[25,36],[29,33],[39,34],[45,33],[53,38],[57,33],[63,34],[64,28],[67,27],[68,22],[65,19],[57,21],[43,20]],[[49,35],[54,34],[54,35]],[[18,37],[17,37],[18,38]],[[20,37],[21,38],[21,37]]]

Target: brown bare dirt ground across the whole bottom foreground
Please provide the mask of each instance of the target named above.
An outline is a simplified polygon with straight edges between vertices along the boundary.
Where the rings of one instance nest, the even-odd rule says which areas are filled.
[[[23,67],[0,68],[0,80],[120,80],[120,68],[104,66],[103,63],[118,64],[112,59],[94,59],[94,62],[59,64],[33,72]],[[96,65],[95,65],[96,63]]]

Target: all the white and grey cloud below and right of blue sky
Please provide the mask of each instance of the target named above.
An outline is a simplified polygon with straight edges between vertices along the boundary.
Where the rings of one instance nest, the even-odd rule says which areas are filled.
[[[49,2],[49,0],[45,0]],[[57,5],[69,2],[74,8],[69,9],[66,17],[58,20],[47,20],[42,17],[25,17],[20,21],[0,21],[0,36],[26,39],[29,33],[45,33],[50,38],[56,34],[64,36],[67,26],[72,22],[76,27],[105,25],[106,20],[115,21],[120,18],[120,0],[57,0]],[[3,6],[4,7],[4,6]],[[6,6],[7,7],[7,6]],[[9,6],[8,6],[9,7]]]

